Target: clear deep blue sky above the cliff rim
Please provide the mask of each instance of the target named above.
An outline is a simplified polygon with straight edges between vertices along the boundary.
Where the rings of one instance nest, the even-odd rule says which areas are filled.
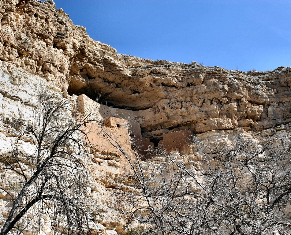
[[[54,0],[118,53],[248,71],[291,66],[291,0]]]

